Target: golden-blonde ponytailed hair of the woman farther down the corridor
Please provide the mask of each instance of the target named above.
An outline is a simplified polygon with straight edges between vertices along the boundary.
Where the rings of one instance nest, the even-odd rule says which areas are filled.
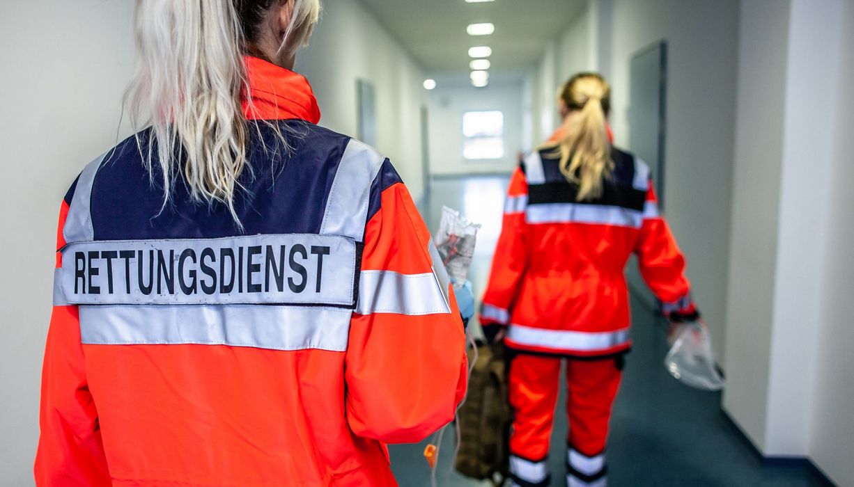
[[[576,200],[602,195],[611,177],[611,142],[606,122],[611,110],[611,86],[599,74],[576,74],[560,90],[560,100],[570,113],[564,121],[564,137],[551,147],[560,155],[560,171],[578,185]]]

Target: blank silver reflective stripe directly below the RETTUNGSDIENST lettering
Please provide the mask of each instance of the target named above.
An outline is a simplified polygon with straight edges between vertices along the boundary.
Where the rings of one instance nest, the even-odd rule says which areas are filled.
[[[85,345],[347,351],[350,310],[304,306],[80,306]]]

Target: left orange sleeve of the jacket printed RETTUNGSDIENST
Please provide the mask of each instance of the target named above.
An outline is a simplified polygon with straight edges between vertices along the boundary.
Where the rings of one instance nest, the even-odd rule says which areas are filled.
[[[68,213],[63,202],[57,249],[65,245],[62,228]],[[56,252],[56,265],[61,254]],[[41,435],[35,479],[46,486],[108,486],[98,414],[86,382],[77,306],[54,306],[42,369]]]

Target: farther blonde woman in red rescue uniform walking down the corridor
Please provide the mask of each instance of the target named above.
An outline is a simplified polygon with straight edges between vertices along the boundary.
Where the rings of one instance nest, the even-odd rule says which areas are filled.
[[[605,447],[623,357],[632,346],[623,274],[631,254],[671,322],[699,319],[683,258],[649,167],[615,148],[611,87],[580,73],[559,95],[563,125],[512,176],[481,323],[513,351],[512,476],[549,485],[561,363],[571,487],[607,484]]]

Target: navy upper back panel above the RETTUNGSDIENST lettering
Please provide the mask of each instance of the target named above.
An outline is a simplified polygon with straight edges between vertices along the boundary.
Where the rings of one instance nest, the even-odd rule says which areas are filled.
[[[290,144],[280,147],[266,123],[250,126],[249,168],[235,206],[196,203],[180,179],[165,208],[159,175],[152,183],[134,137],[108,154],[92,188],[95,239],[219,238],[232,235],[318,233],[338,164],[350,140],[307,122],[278,122]],[[146,139],[147,137],[143,137]]]

